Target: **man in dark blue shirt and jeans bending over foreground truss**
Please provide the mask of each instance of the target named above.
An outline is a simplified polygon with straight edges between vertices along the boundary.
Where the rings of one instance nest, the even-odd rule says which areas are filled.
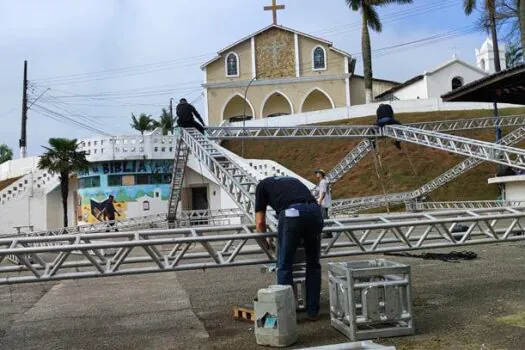
[[[255,223],[257,232],[266,232],[266,207],[278,215],[279,247],[277,283],[293,286],[294,256],[301,239],[306,255],[306,312],[308,318],[319,314],[321,294],[321,207],[310,190],[299,180],[288,177],[268,177],[255,191]]]

